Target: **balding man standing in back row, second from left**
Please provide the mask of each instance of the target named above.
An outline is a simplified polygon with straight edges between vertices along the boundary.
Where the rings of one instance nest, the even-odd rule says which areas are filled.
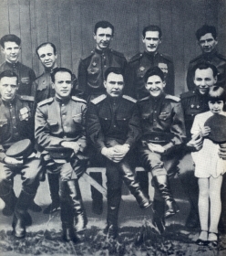
[[[56,46],[50,42],[42,43],[36,48],[36,55],[45,69],[44,73],[34,81],[36,103],[38,103],[55,96],[55,90],[52,88],[51,73],[57,68]],[[77,78],[75,75],[73,75],[72,83],[72,94],[74,95],[77,88]],[[52,203],[44,209],[44,214],[53,213],[60,207],[58,176],[52,173],[48,173],[47,176]]]

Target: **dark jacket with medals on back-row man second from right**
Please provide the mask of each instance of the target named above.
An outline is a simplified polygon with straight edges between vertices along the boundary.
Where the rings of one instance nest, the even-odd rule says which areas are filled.
[[[146,71],[154,66],[159,66],[164,72],[166,80],[164,91],[174,95],[174,66],[172,60],[159,52],[149,54],[146,51],[135,55],[128,61],[125,93],[139,100],[148,97],[149,91],[145,88],[143,77]]]

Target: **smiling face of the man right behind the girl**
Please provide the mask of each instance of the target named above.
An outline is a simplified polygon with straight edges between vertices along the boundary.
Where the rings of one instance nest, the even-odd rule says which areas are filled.
[[[196,69],[194,84],[199,87],[200,94],[205,94],[209,88],[217,82],[217,77],[213,77],[213,71],[208,69]]]

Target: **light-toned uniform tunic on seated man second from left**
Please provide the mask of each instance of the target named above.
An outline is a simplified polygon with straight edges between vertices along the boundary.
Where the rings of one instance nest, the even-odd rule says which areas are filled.
[[[36,143],[49,152],[54,161],[65,159],[69,162],[77,175],[86,171],[84,162],[87,164],[87,157],[83,155],[87,144],[86,111],[86,101],[75,96],[65,100],[49,98],[39,102],[36,108]],[[60,145],[62,142],[77,142],[80,146],[77,155],[71,157],[71,153]]]

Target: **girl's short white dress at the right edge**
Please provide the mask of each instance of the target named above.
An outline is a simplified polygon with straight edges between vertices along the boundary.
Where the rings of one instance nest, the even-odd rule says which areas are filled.
[[[226,112],[222,112],[222,114],[226,116]],[[204,123],[212,115],[211,111],[197,114],[190,133],[200,133],[201,127],[204,127]],[[219,148],[220,144],[213,143],[210,139],[204,138],[200,151],[191,153],[195,163],[195,176],[200,178],[213,176],[216,178],[226,172],[226,160],[223,160],[218,155]]]

